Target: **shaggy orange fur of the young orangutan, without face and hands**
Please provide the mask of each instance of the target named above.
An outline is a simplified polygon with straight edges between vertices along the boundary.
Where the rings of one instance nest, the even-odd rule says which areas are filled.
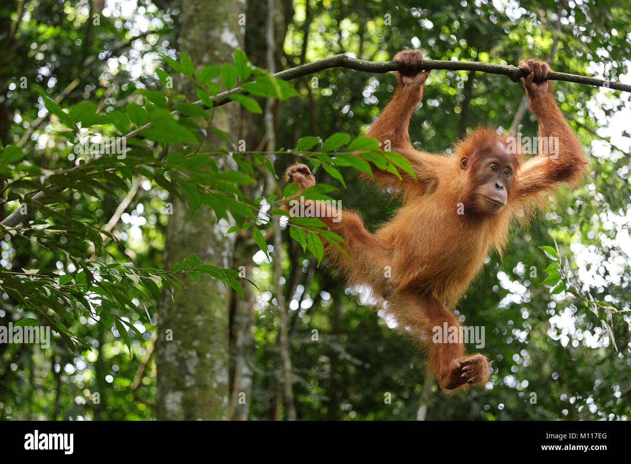
[[[424,81],[399,85],[392,101],[367,131],[382,144],[389,141],[392,151],[406,157],[416,174],[415,180],[401,172],[402,179],[398,179],[373,166],[375,182],[394,187],[403,199],[394,217],[374,234],[351,211],[341,211],[341,222],[337,223],[331,220],[330,210],[320,217],[330,230],[345,239],[343,247],[350,257],[325,243],[329,263],[349,283],[370,287],[377,305],[396,319],[398,329],[427,348],[428,371],[437,374],[443,390],[450,390],[450,379],[464,372],[461,369],[466,362],[473,363],[471,369],[476,372],[469,383],[485,383],[489,369],[485,356],[463,357],[461,343],[430,342],[433,327],[444,322],[458,326],[456,316],[444,303],[456,304],[491,249],[502,253],[513,219],[526,221],[529,213],[541,205],[542,194],[560,182],[579,181],[586,162],[581,144],[565,122],[551,91],[546,95],[529,93],[530,107],[540,123],[539,136],[559,138],[558,158],[551,160],[548,153],[540,153],[523,162],[520,155],[513,155],[514,181],[507,187],[507,204],[493,214],[476,213],[469,208],[474,195],[473,179],[487,160],[488,151],[497,143],[506,146],[507,136],[480,128],[458,141],[451,156],[415,150],[408,125],[422,98],[423,85]],[[469,160],[468,169],[461,169],[464,156]],[[310,172],[305,174],[308,181],[299,173],[296,175],[288,175],[287,180],[300,182],[303,189],[315,184]],[[458,213],[459,205],[464,214]]]

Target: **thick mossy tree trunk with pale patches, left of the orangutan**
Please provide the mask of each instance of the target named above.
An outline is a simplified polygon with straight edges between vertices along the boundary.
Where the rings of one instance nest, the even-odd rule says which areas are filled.
[[[189,52],[197,69],[232,62],[234,50],[244,42],[241,13],[245,13],[245,4],[239,1],[182,1],[181,51]],[[177,87],[197,100],[189,81]],[[239,140],[239,126],[239,105],[215,110],[213,127],[231,134],[232,140]],[[207,147],[217,145],[215,138],[209,138]],[[220,169],[232,162],[228,157],[213,159]],[[167,225],[165,267],[170,269],[172,263],[196,253],[202,263],[231,268],[234,244],[223,237],[228,222],[216,224],[215,214],[206,206],[191,215],[187,203],[177,198],[170,201],[173,215]],[[184,295],[177,290],[174,299],[163,295],[158,311],[158,419],[227,419],[230,292],[223,283],[206,276],[199,284],[191,278],[184,283]]]

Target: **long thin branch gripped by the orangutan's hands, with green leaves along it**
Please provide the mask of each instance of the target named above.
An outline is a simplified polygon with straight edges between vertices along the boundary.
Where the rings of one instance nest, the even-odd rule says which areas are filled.
[[[237,50],[235,52],[235,66],[230,64],[224,64],[221,67],[206,66],[202,69],[202,71],[196,73],[190,57],[186,53],[183,53],[181,58],[181,62],[177,62],[165,57],[167,62],[170,63],[175,71],[179,71],[189,77],[196,76],[196,78],[198,78],[198,81],[201,84],[201,87],[198,89],[198,97],[200,99],[193,104],[188,103],[176,105],[174,110],[170,112],[172,116],[202,116],[207,118],[204,113],[205,110],[225,105],[231,101],[240,102],[240,104],[244,105],[246,109],[251,110],[252,112],[261,112],[261,108],[256,100],[247,97],[247,95],[276,98],[293,97],[296,96],[297,93],[292,87],[286,85],[285,81],[293,80],[307,74],[324,71],[325,69],[346,68],[366,73],[387,73],[389,71],[399,71],[401,69],[401,66],[396,61],[364,61],[345,54],[339,54],[307,64],[302,64],[300,66],[296,66],[295,68],[286,69],[285,71],[280,71],[278,73],[266,74],[263,69],[252,66],[249,61],[247,61],[247,57],[245,57],[244,52]],[[524,71],[510,64],[504,65],[478,61],[445,61],[425,59],[423,61],[422,69],[449,69],[451,71],[480,71],[490,74],[502,74],[509,76],[511,80],[516,82],[519,81],[520,78],[526,76]],[[421,69],[419,69],[419,71],[420,70]],[[158,70],[158,75],[163,83],[168,78],[168,74],[162,69]],[[235,86],[237,83],[237,77],[247,80],[247,78],[251,75],[255,76],[254,80],[247,81],[241,86]],[[221,83],[213,83],[213,79],[218,76],[221,76],[221,81],[227,86],[228,90],[226,92],[216,93],[219,90]],[[548,72],[548,79],[631,92],[631,85],[628,84],[588,76],[579,76],[576,74],[559,73],[557,71]],[[204,86],[206,86],[206,91],[204,91]],[[160,105],[160,103],[163,102],[163,98],[165,98],[162,93],[152,90],[144,90],[141,91],[141,93],[143,93],[151,101],[151,103],[156,105]],[[50,110],[50,112],[55,114],[57,117],[60,117],[62,122],[70,122],[71,126],[74,126],[74,124],[72,124],[74,121],[69,121],[69,118],[73,116],[72,112],[68,115],[49,97],[43,94],[43,98],[46,107]],[[93,113],[93,109],[95,109],[96,105],[94,105],[93,108],[93,104],[90,104],[90,102],[82,103],[85,103],[86,105],[83,105],[83,107],[80,107],[74,112],[75,118],[80,116],[88,119],[89,122],[107,122],[107,120],[103,120]],[[151,129],[154,129],[153,133],[155,136],[159,130],[156,128],[156,125],[158,124],[156,124],[155,121],[148,120],[148,118],[146,118],[146,114],[143,114],[142,111],[138,110],[138,105],[134,105],[135,104],[133,103],[127,104],[127,110],[129,112],[129,119],[136,122],[138,128],[124,134],[122,139],[127,140],[137,135],[143,135],[143,133],[144,135],[147,135],[148,131],[151,131]],[[77,107],[79,107],[79,105],[77,105]],[[111,122],[114,122],[119,129],[125,128],[126,126],[128,127],[128,122],[126,122],[126,117],[124,116],[125,115],[122,114],[121,111],[114,111],[109,115],[110,119],[112,119]],[[103,118],[105,118],[105,116],[103,116]],[[76,126],[74,127],[76,128]],[[186,137],[186,134],[184,134],[184,136]],[[62,190],[63,189],[60,187],[54,187],[53,189],[56,193]],[[39,205],[45,196],[45,191],[38,192],[35,196],[33,196],[33,204]],[[14,227],[18,223],[22,222],[26,217],[27,215],[23,215],[20,211],[16,210],[13,211],[11,215],[4,218],[1,224],[8,227]]]

